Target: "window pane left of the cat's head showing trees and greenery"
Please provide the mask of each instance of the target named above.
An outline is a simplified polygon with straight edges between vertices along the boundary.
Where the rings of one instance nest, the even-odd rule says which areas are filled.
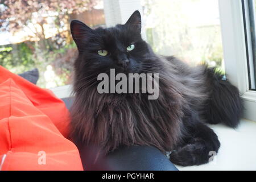
[[[77,51],[70,20],[105,26],[103,0],[0,1],[0,16],[0,65],[14,73],[38,68],[43,88],[71,82]]]

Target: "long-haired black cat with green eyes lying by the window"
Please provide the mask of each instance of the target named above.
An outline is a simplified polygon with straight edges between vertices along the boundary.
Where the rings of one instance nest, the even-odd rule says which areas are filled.
[[[173,56],[155,55],[141,38],[141,15],[125,24],[92,30],[78,20],[71,32],[79,50],[75,61],[74,140],[98,146],[105,154],[119,146],[147,145],[172,151],[181,166],[207,163],[218,152],[217,135],[204,122],[236,127],[242,103],[238,89],[207,65],[190,67]],[[159,73],[159,98],[147,94],[100,94],[97,76]]]

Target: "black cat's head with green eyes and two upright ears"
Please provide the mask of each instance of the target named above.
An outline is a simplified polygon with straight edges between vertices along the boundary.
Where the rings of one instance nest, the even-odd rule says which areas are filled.
[[[71,33],[79,58],[75,69],[88,74],[140,73],[150,57],[151,48],[141,37],[141,14],[135,11],[125,24],[110,28],[92,28],[79,20],[72,20]]]

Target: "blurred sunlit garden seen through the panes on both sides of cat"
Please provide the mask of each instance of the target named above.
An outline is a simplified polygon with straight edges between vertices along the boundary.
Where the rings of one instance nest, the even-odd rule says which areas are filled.
[[[109,0],[111,1],[111,0]],[[138,0],[146,40],[156,53],[224,71],[217,0]],[[14,73],[38,68],[38,85],[70,84],[75,43],[69,23],[106,26],[103,0],[0,1],[0,65]]]

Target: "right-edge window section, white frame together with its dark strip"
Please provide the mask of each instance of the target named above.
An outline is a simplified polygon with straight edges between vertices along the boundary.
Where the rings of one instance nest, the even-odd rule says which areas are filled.
[[[256,121],[254,0],[218,2],[226,76],[240,90],[243,117]]]

